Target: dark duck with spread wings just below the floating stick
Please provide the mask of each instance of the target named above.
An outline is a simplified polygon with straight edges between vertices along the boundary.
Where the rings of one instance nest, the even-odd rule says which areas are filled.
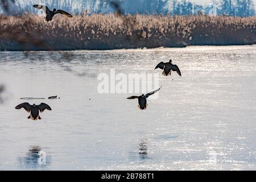
[[[44,110],[52,110],[50,106],[48,106],[47,104],[41,103],[40,105],[30,105],[27,102],[26,103],[22,103],[18,106],[15,107],[15,109],[22,109],[24,108],[28,113],[30,113],[30,116],[28,117],[28,119],[32,119],[32,120],[40,120],[42,118],[40,118],[39,116],[39,111],[40,113],[43,113]]]

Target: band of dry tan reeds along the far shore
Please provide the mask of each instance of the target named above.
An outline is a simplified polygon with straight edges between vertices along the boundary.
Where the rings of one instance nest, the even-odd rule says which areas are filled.
[[[256,40],[256,17],[84,15],[0,16],[0,49],[73,50],[243,45]]]

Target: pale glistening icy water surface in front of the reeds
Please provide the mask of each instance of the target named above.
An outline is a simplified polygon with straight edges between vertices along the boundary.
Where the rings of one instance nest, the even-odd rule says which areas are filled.
[[[255,57],[256,46],[0,52],[0,169],[255,170]],[[169,59],[183,77],[154,71]],[[98,93],[110,68],[158,73],[158,99],[142,111],[133,94]],[[14,109],[56,95],[29,101],[52,107],[42,121]]]

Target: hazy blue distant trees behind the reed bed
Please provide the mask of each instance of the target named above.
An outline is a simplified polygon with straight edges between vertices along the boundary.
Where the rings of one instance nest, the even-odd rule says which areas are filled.
[[[115,9],[112,2],[118,3],[124,14],[150,15],[197,15],[216,14],[230,16],[254,16],[253,0],[220,0],[202,6],[189,0],[0,0],[0,13],[5,12],[4,6],[9,5],[9,15],[36,13],[34,3],[43,3],[53,9],[63,9],[72,14],[109,14]]]

